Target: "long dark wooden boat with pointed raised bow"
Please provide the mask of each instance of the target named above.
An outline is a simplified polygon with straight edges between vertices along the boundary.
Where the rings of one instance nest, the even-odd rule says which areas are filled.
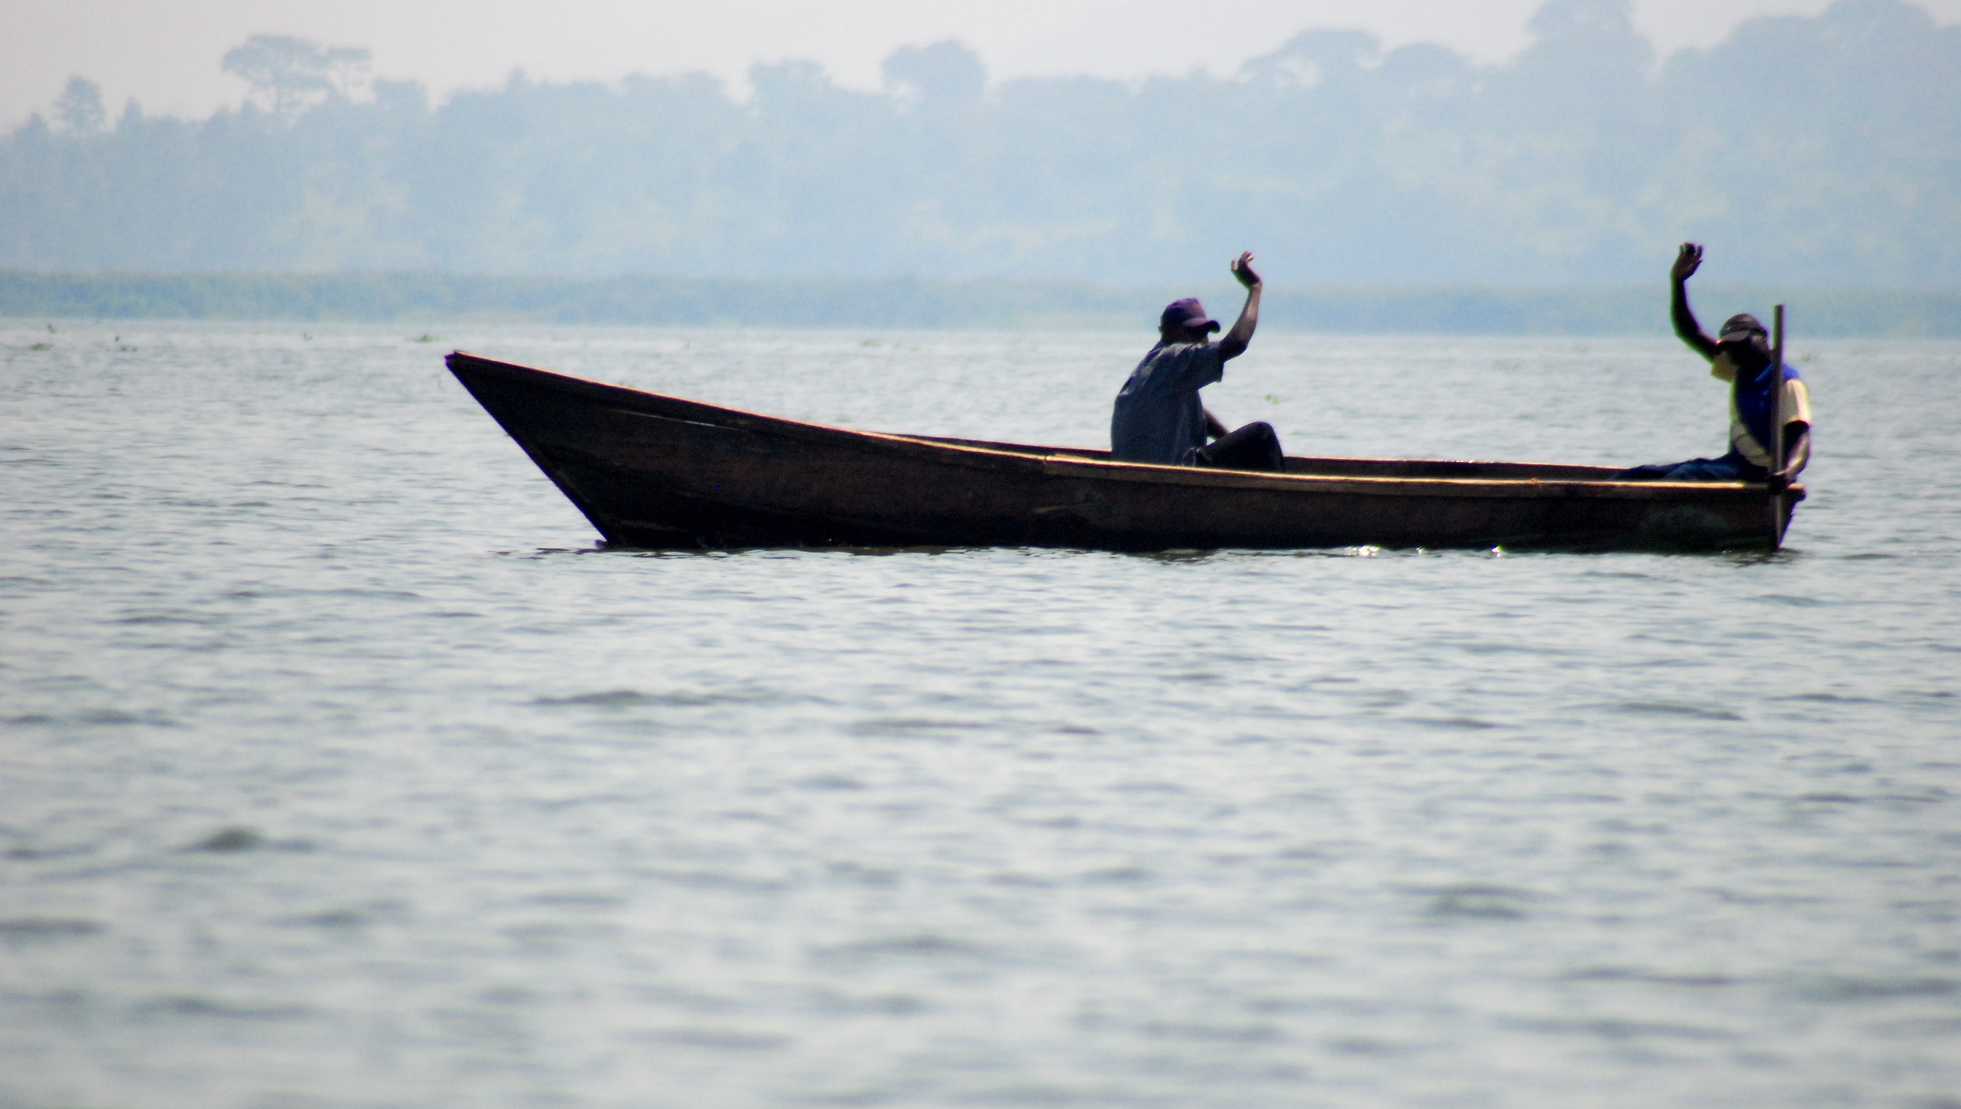
[[[1286,473],[849,432],[449,355],[457,381],[631,548],[1769,548],[1769,491],[1612,467],[1288,457]],[[1804,497],[1794,487],[1786,504]],[[1790,510],[1785,510],[1785,524]]]

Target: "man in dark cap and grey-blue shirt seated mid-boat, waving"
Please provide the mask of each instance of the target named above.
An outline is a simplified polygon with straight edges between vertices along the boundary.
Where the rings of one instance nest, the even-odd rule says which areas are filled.
[[[1226,359],[1245,353],[1253,328],[1259,326],[1261,285],[1253,273],[1251,251],[1233,259],[1232,275],[1245,287],[1245,306],[1218,343],[1212,343],[1212,332],[1220,330],[1220,324],[1206,316],[1204,304],[1196,298],[1186,296],[1165,306],[1157,320],[1157,345],[1143,355],[1116,395],[1116,410],[1110,414],[1114,461],[1286,469],[1281,436],[1273,432],[1273,424],[1247,424],[1228,434],[1198,400],[1200,389],[1226,377]],[[1208,438],[1218,442],[1208,446]]]

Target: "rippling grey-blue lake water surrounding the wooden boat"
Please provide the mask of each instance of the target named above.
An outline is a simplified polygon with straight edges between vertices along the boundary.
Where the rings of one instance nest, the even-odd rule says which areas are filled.
[[[441,355],[1100,446],[1147,336],[53,328],[0,324],[8,1109],[1961,1105],[1961,343],[1794,343],[1773,557],[655,555]],[[1210,393],[1294,453],[1726,426],[1669,342]]]

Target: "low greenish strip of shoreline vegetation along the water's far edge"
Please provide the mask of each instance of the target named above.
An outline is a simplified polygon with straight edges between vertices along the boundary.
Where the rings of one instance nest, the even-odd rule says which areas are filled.
[[[1088,285],[1004,279],[475,277],[453,273],[18,273],[0,318],[441,322],[667,328],[898,328],[1149,332],[1165,300],[1224,281]],[[1961,292],[1702,285],[1710,320],[1788,302],[1808,338],[1961,338]],[[1667,287],[1279,287],[1261,326],[1320,334],[1665,336]]]

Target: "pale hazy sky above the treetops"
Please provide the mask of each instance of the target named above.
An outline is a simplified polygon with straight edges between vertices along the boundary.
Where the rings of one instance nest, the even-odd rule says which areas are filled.
[[[1722,39],[1751,16],[1816,16],[1830,0],[1634,0],[1661,51]],[[1941,24],[1961,0],[1920,0]],[[741,88],[755,61],[802,57],[861,88],[896,47],[957,37],[996,80],[1194,67],[1228,75],[1310,27],[1388,45],[1432,41],[1479,61],[1526,45],[1541,0],[0,0],[0,126],[47,112],[69,77],[102,84],[110,114],[208,116],[243,100],[218,59],[255,33],[375,51],[375,75],[441,96],[541,80],[706,71]]]

